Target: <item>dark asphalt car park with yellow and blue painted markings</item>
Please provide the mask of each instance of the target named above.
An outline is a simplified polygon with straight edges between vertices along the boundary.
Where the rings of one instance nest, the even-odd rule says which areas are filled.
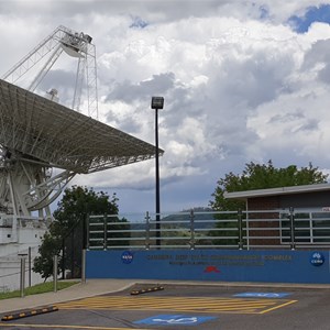
[[[164,285],[131,295],[155,287],[57,304],[58,311],[2,321],[0,329],[330,329],[330,289]]]

